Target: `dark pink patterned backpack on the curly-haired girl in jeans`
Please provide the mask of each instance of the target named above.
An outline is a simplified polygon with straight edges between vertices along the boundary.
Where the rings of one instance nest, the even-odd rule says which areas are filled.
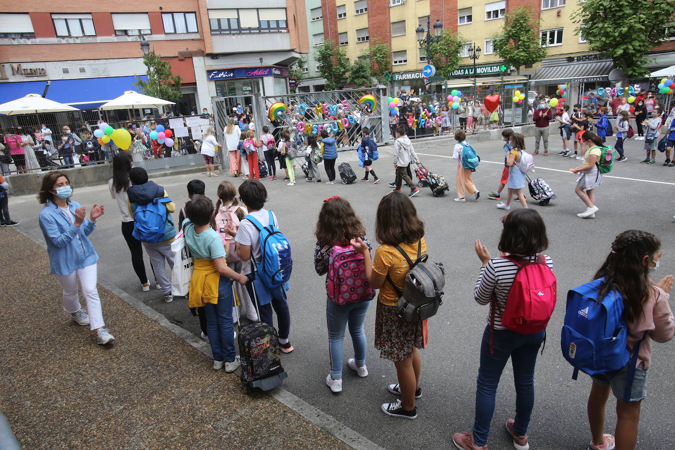
[[[328,262],[326,291],[336,305],[369,302],[375,290],[368,283],[363,255],[352,246],[333,246]]]

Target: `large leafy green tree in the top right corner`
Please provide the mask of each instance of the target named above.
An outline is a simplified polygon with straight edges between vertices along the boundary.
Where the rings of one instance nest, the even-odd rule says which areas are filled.
[[[589,49],[611,58],[626,78],[647,74],[647,52],[666,40],[672,23],[672,0],[586,0],[578,3],[572,21],[579,24]]]

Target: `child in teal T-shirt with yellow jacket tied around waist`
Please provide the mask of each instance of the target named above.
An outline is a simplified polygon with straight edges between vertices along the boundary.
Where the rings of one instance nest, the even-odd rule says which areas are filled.
[[[225,262],[223,241],[211,228],[211,200],[196,195],[185,210],[188,215],[182,224],[185,244],[194,258],[188,306],[205,309],[213,370],[224,366],[225,372],[234,372],[240,362],[234,348],[232,280],[244,285],[248,278],[230,269]]]

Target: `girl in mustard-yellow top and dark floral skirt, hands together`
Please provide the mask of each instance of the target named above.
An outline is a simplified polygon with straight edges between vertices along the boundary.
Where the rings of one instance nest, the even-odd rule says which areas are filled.
[[[405,125],[399,125],[396,132]],[[403,130],[405,132],[405,130]],[[409,198],[399,191],[389,192],[380,200],[375,219],[375,237],[380,246],[371,260],[368,246],[363,240],[351,241],[357,252],[363,255],[368,282],[373,289],[380,289],[375,311],[375,348],[380,358],[394,362],[398,383],[389,385],[390,393],[400,396],[391,403],[383,403],[382,411],[387,416],[416,419],[415,399],[422,397],[419,387],[422,360],[417,351],[428,341],[427,320],[408,322],[399,316],[396,306],[399,292],[404,289],[410,264],[408,258],[426,254],[425,225],[417,216],[417,210]]]

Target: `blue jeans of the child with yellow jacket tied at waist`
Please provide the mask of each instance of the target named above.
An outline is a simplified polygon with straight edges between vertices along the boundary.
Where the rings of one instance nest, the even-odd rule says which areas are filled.
[[[232,306],[232,280],[221,275],[218,283],[218,303],[204,305],[214,361],[232,362],[236,356]]]

